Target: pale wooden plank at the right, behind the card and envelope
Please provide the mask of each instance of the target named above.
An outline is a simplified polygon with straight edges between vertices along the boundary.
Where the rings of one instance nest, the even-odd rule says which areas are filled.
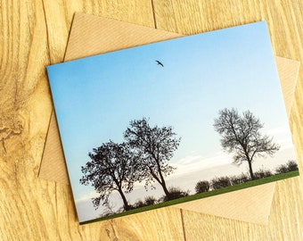
[[[302,4],[299,1],[160,1],[154,0],[158,28],[194,34],[254,21],[267,21],[274,54],[303,61]],[[189,12],[192,12],[189,14]],[[303,70],[300,68],[290,125],[302,172]],[[184,211],[186,240],[303,239],[302,176],[278,182],[269,225],[262,227]],[[201,231],[203,230],[203,231]]]

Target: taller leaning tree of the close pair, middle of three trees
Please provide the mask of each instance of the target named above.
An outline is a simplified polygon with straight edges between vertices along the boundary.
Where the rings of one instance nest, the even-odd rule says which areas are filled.
[[[145,187],[152,181],[160,183],[165,195],[170,200],[165,177],[175,168],[168,164],[173,157],[181,138],[176,137],[172,127],[151,127],[148,120],[131,120],[124,137],[135,150],[140,177],[145,179]]]

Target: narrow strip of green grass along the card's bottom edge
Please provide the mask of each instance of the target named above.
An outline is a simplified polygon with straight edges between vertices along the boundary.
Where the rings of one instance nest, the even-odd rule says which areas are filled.
[[[154,205],[150,205],[150,206],[145,206],[142,208],[137,208],[137,209],[133,209],[127,212],[121,212],[121,213],[117,213],[117,214],[113,214],[111,216],[108,217],[102,217],[102,218],[98,218],[98,219],[94,219],[94,220],[87,220],[87,221],[83,221],[80,222],[80,224],[87,224],[87,223],[91,223],[91,222],[95,222],[95,221],[100,221],[100,220],[110,220],[110,219],[114,219],[114,218],[118,218],[118,217],[123,217],[123,216],[127,216],[130,214],[135,214],[138,212],[146,212],[146,211],[150,211],[153,209],[157,209],[157,208],[162,208],[162,207],[167,207],[167,206],[171,206],[171,205],[175,205],[175,204],[181,204],[181,203],[186,203],[186,202],[191,202],[193,200],[197,200],[197,199],[201,199],[204,197],[209,197],[212,195],[220,195],[220,194],[225,194],[228,192],[233,192],[233,191],[237,191],[237,190],[241,190],[247,187],[254,187],[254,186],[258,186],[261,184],[266,184],[269,182],[273,182],[273,181],[278,181],[281,179],[289,179],[292,177],[296,177],[299,176],[299,170],[294,170],[294,171],[290,171],[287,173],[283,173],[283,174],[277,174],[268,178],[264,178],[264,179],[256,179],[256,180],[250,180],[248,182],[242,183],[242,184],[237,184],[234,186],[230,186],[230,187],[223,187],[221,189],[218,190],[213,190],[213,191],[209,191],[206,193],[201,193],[201,194],[196,194],[196,195],[189,195],[189,196],[185,196],[185,197],[181,197],[175,200],[171,200],[165,203],[161,203],[161,204],[154,204]]]

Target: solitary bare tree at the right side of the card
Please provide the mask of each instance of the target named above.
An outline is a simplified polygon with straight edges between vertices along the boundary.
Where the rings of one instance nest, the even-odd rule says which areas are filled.
[[[214,128],[221,135],[221,145],[227,153],[234,153],[233,160],[236,164],[248,162],[250,178],[254,179],[252,162],[257,156],[266,154],[273,156],[280,146],[273,143],[273,137],[262,135],[260,129],[263,124],[250,111],[242,113],[235,109],[224,109],[215,119]]]

